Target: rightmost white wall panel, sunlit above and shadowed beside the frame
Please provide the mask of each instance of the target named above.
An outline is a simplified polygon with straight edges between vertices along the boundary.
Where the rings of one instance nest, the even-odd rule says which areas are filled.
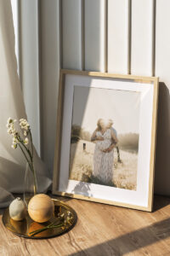
[[[156,192],[170,195],[170,1],[156,1],[156,76],[160,77]]]

